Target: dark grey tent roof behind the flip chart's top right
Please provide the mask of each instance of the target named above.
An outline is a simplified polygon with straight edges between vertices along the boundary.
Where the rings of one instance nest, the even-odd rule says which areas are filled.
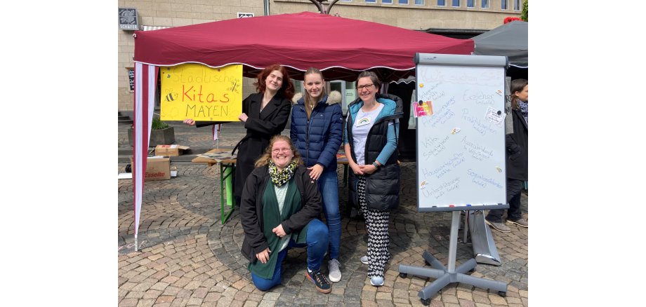
[[[475,41],[475,55],[505,55],[511,66],[529,66],[525,21],[508,22],[472,39]]]

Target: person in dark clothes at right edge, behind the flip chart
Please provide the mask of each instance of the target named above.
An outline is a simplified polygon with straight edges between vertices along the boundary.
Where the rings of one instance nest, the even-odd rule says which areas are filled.
[[[520,210],[520,192],[523,182],[527,181],[527,101],[529,100],[527,80],[515,79],[510,85],[511,114],[513,118],[513,134],[506,135],[507,150],[507,223],[528,227],[527,220],[522,217]],[[525,112],[522,105],[525,104]],[[492,209],[484,217],[484,221],[492,228],[503,233],[511,231],[503,223],[504,209]]]

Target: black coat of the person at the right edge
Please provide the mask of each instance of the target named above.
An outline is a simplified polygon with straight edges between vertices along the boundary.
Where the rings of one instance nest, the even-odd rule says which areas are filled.
[[[512,110],[514,132],[506,135],[507,178],[527,181],[527,122],[520,110]]]

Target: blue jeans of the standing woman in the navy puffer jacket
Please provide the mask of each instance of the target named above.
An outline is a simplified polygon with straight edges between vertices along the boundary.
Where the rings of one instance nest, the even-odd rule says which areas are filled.
[[[330,233],[330,259],[338,259],[341,247],[341,213],[338,211],[338,178],[336,170],[323,172],[319,177],[319,191],[323,198],[323,213]]]

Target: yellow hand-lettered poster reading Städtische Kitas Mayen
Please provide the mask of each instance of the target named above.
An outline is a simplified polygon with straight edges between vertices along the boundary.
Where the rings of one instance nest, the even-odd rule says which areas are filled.
[[[238,121],[242,113],[242,64],[161,67],[162,121]]]

